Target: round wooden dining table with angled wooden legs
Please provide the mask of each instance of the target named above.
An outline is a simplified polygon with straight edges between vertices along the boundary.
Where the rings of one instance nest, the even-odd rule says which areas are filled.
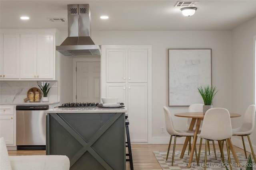
[[[188,162],[188,168],[190,168],[190,165],[192,163],[193,156],[194,156],[195,147],[196,147],[197,134],[198,134],[199,129],[200,129],[201,121],[204,119],[204,113],[203,112],[183,112],[183,113],[175,113],[174,116],[192,118],[192,121],[191,121],[189,129],[188,129],[190,131],[193,130],[194,125],[196,123],[196,129],[195,129],[195,132],[194,132],[193,144],[192,144],[192,147],[191,147],[191,154],[190,154],[190,158],[189,158],[189,162]],[[230,113],[230,118],[240,117],[240,116],[241,116],[241,114],[239,114],[239,113]],[[188,145],[188,140],[189,140],[189,137],[186,137],[185,143],[184,143],[183,148],[182,148],[182,152],[180,154],[180,158],[183,158],[183,156],[184,156],[186,147]],[[233,155],[236,163],[240,164],[240,162],[238,160],[238,157],[236,155],[236,152],[234,150],[234,146],[231,142],[231,139],[229,138],[229,139],[227,139],[227,141],[228,141],[228,146],[230,147],[230,150],[232,152],[232,155]],[[219,147],[221,148],[222,144],[221,144],[220,141],[218,141],[218,144],[219,144]],[[223,155],[221,155],[221,156],[223,156]]]

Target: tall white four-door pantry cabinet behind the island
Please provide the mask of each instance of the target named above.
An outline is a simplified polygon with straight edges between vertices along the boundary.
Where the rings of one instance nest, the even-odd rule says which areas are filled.
[[[102,45],[101,96],[118,98],[127,107],[132,143],[148,142],[148,120],[152,112],[151,58],[151,45]]]

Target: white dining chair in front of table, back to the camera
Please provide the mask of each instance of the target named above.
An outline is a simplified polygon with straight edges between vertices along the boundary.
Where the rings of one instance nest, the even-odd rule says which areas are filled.
[[[204,158],[205,165],[207,162],[208,140],[215,140],[215,141],[225,140],[226,147],[228,150],[228,162],[231,164],[230,151],[228,149],[227,139],[232,137],[232,127],[231,127],[230,114],[227,109],[224,109],[224,108],[208,109],[204,115],[204,121],[202,124],[201,132],[200,134],[197,134],[197,136],[201,138],[199,152],[198,152],[198,161],[200,158],[202,139],[206,139],[205,158]],[[230,168],[232,169],[232,167]],[[204,169],[206,169],[206,166],[204,167]]]

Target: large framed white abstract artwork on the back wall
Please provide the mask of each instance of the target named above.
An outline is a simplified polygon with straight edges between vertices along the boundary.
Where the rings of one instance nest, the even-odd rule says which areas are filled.
[[[212,49],[168,49],[168,106],[202,103],[199,86],[212,85]]]

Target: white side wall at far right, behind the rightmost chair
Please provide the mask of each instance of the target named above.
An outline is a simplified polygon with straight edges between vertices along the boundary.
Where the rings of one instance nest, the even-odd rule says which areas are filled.
[[[239,127],[246,108],[255,104],[255,39],[256,18],[236,27],[232,37],[232,111],[242,113],[235,125]],[[250,151],[247,138],[246,150]],[[250,135],[254,151],[256,150],[256,127]],[[241,137],[233,137],[234,145],[242,147]]]

